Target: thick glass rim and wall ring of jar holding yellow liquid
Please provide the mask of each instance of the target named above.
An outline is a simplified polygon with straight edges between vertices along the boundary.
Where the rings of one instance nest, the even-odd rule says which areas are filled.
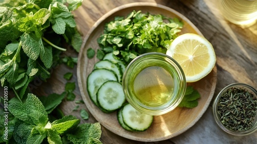
[[[159,59],[163,60],[161,61],[162,64],[166,63],[169,64],[170,66],[174,67],[175,71],[172,71],[172,73],[176,73],[178,75],[176,86],[174,85],[174,88],[179,89],[174,91],[177,93],[177,99],[175,99],[174,102],[169,103],[168,106],[159,106],[159,107],[152,107],[152,106],[147,106],[145,104],[142,104],[135,98],[135,96],[132,94],[132,89],[129,88],[131,80],[133,80],[132,75],[135,73],[135,75],[139,74],[142,69],[145,69],[146,67],[155,66],[155,63],[145,63],[149,62],[149,60],[155,60],[160,61]],[[139,68],[138,68],[139,67]],[[138,70],[136,71],[135,70]],[[167,69],[166,69],[167,70]],[[171,73],[171,71],[169,71]],[[185,74],[183,73],[183,70],[181,66],[170,56],[160,53],[160,52],[148,52],[148,53],[143,53],[142,55],[136,57],[134,60],[128,64],[126,67],[124,74],[123,74],[123,79],[122,79],[122,86],[123,86],[123,92],[125,94],[125,97],[131,105],[137,109],[138,111],[145,113],[145,114],[150,114],[150,115],[161,115],[164,113],[168,113],[175,109],[175,107],[181,102],[183,96],[185,95],[186,92],[186,77]]]

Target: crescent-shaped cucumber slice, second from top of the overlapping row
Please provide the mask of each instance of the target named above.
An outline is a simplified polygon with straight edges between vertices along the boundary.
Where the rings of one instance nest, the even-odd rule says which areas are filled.
[[[118,65],[117,63],[113,63],[112,61],[109,61],[109,60],[102,60],[97,62],[94,65],[94,69],[96,68],[106,68],[106,69],[113,70],[115,74],[118,76],[118,81],[121,82],[123,73],[121,70],[121,66]]]

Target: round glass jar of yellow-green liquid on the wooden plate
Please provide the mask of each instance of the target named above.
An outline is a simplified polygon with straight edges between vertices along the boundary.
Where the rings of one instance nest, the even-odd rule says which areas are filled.
[[[175,109],[186,92],[186,78],[170,56],[148,52],[135,58],[123,74],[123,91],[136,110],[162,115]]]

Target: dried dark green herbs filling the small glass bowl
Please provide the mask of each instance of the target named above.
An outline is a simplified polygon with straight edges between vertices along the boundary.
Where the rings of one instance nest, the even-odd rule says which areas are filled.
[[[232,131],[246,131],[253,125],[257,99],[244,88],[227,89],[218,101],[217,111],[221,122]]]

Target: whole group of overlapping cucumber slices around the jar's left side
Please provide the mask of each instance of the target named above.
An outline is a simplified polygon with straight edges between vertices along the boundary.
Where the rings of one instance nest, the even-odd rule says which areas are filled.
[[[90,99],[104,113],[117,111],[122,128],[128,131],[145,131],[153,122],[153,116],[143,114],[127,103],[122,88],[125,65],[107,53],[94,65],[87,77],[87,92]]]

